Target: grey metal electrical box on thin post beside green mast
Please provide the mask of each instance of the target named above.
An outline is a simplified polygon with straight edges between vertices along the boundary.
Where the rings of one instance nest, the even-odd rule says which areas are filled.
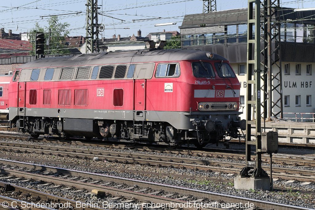
[[[261,152],[278,153],[278,132],[261,133]]]

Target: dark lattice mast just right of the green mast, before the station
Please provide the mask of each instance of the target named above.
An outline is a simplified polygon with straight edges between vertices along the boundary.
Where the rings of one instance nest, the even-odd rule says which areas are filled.
[[[261,31],[264,32],[261,37],[264,43],[264,49],[261,50],[264,66],[264,85],[261,89],[264,92],[262,117],[271,120],[271,117],[283,118],[280,22],[277,13],[280,0],[263,0],[261,6]]]

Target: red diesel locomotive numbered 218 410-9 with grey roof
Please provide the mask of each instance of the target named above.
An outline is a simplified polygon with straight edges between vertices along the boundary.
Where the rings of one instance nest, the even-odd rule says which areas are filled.
[[[237,136],[240,83],[229,62],[186,49],[42,58],[10,83],[11,126],[67,138],[198,147]]]

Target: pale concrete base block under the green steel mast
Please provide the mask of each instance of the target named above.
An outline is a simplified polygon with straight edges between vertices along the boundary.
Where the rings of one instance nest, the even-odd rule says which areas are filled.
[[[234,188],[237,190],[270,190],[270,178],[237,176],[234,178]]]

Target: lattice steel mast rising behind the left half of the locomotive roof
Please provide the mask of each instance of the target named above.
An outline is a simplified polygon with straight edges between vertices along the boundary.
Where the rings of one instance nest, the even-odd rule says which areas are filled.
[[[97,0],[87,0],[86,3],[86,48],[85,53],[100,51],[99,47],[99,25]]]

